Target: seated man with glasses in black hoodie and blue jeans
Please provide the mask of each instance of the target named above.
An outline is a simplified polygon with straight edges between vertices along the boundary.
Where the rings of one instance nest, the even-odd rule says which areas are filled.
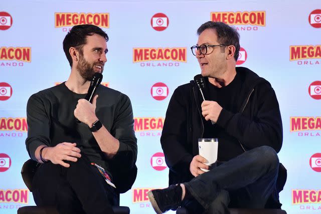
[[[149,200],[157,213],[179,206],[189,213],[280,208],[282,121],[274,90],[251,70],[235,67],[235,29],[207,22],[197,33],[191,49],[204,77],[205,101],[194,81],[175,90],[161,137],[171,186],[149,191]],[[219,141],[218,161],[204,172],[209,166],[199,155],[198,138],[213,137]]]

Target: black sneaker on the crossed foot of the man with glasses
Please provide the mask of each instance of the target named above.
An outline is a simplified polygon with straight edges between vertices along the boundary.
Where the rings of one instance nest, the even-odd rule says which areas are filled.
[[[180,184],[147,192],[149,201],[157,214],[179,207],[182,202],[182,194],[183,190]]]

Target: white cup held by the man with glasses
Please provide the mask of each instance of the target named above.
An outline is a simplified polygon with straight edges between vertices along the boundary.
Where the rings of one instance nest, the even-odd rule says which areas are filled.
[[[217,138],[199,138],[199,154],[208,160],[205,163],[208,166],[212,166],[217,161],[219,141]],[[209,170],[201,168],[203,171]]]

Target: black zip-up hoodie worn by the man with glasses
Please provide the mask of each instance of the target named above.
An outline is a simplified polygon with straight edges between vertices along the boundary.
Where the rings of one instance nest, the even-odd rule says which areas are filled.
[[[270,83],[251,70],[237,67],[242,88],[235,93],[238,112],[221,111],[217,126],[224,129],[219,138],[218,160],[227,161],[259,146],[267,145],[279,152],[282,145],[282,121],[275,92]],[[207,84],[208,79],[206,78]],[[169,103],[161,137],[169,183],[187,182],[194,176],[190,163],[198,151],[198,138],[204,133],[197,86],[179,86]],[[213,136],[215,137],[215,136]]]

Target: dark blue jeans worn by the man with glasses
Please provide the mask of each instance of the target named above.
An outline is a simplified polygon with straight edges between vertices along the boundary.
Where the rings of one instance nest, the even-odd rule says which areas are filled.
[[[229,213],[228,207],[264,208],[276,189],[278,167],[273,148],[246,151],[184,183],[197,203],[183,201],[183,206],[193,209],[196,204],[194,209],[207,213]]]

